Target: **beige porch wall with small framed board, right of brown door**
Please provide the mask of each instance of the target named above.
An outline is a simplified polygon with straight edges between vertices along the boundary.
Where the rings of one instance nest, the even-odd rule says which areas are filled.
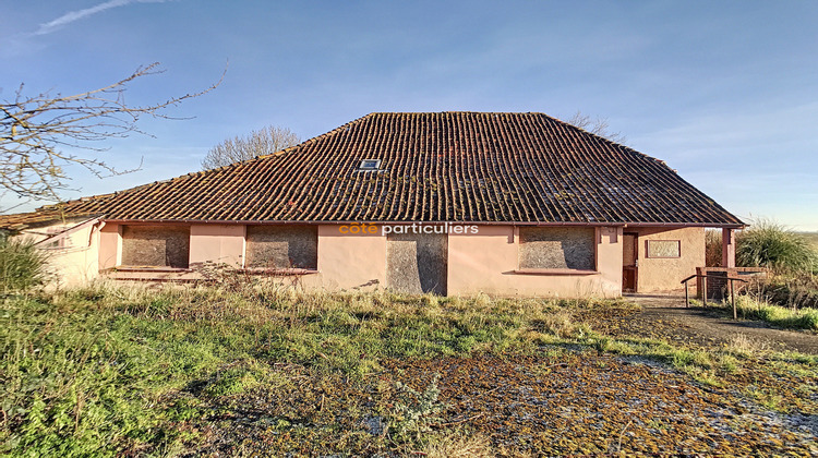
[[[639,236],[637,292],[683,291],[681,281],[705,265],[705,228],[628,228]],[[681,241],[681,257],[651,258],[648,240]]]

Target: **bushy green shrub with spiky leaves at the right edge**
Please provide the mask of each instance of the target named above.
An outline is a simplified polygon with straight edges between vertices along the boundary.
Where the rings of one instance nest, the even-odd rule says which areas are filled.
[[[781,273],[815,272],[818,253],[803,236],[770,220],[759,220],[736,237],[736,264]]]

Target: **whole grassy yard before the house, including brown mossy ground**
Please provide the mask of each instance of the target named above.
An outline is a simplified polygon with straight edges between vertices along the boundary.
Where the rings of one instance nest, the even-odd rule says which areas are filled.
[[[635,308],[262,287],[5,297],[0,451],[818,451],[796,421],[818,414],[818,358],[581,318]]]

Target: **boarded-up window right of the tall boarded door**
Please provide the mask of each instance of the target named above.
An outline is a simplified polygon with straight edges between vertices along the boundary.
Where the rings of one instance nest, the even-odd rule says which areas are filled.
[[[520,228],[520,268],[593,270],[593,228]]]

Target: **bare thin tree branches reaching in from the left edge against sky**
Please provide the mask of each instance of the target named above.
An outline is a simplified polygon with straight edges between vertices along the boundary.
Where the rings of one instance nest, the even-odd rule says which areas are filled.
[[[68,189],[71,180],[65,166],[82,166],[97,177],[128,172],[95,157],[108,149],[95,143],[132,133],[146,134],[136,125],[143,116],[180,119],[169,117],[165,110],[221,83],[219,80],[202,92],[153,105],[129,106],[124,98],[128,85],[141,76],[163,73],[158,67],[158,62],[140,67],[124,80],[71,96],[52,96],[50,92],[25,96],[21,84],[13,101],[0,104],[0,190],[23,198],[59,200],[59,191]],[[67,152],[76,148],[94,154],[84,157]]]

